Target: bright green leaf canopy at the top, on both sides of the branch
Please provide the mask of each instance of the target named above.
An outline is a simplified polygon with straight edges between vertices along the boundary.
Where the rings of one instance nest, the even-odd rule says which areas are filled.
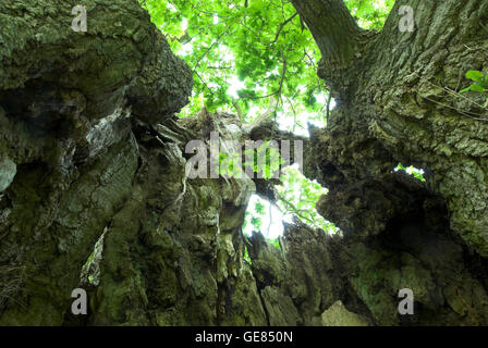
[[[191,103],[181,115],[242,111],[243,121],[272,107],[282,116],[325,114],[318,96],[320,52],[291,2],[282,0],[144,0],[152,22],[194,70]],[[393,0],[346,1],[361,25],[382,26]],[[271,98],[273,97],[273,98]],[[322,98],[324,99],[324,98]]]

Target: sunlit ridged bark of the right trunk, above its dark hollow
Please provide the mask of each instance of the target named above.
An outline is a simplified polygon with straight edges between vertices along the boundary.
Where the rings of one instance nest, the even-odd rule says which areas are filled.
[[[368,53],[347,72],[355,83],[339,94],[340,105],[326,129],[330,136],[326,151],[338,165],[330,163],[322,173],[332,171],[332,181],[338,181],[339,167],[339,177],[357,181],[388,176],[398,162],[425,169],[428,188],[448,201],[452,228],[486,257],[488,113],[477,96],[452,91],[467,83],[463,78],[467,70],[486,70],[488,33],[481,22],[487,5],[413,2],[412,33],[399,29],[400,5],[402,1],[395,3]],[[322,65],[320,72],[327,69]],[[347,76],[342,77],[347,84]],[[350,153],[351,160],[335,149]],[[353,153],[364,158],[355,163]]]

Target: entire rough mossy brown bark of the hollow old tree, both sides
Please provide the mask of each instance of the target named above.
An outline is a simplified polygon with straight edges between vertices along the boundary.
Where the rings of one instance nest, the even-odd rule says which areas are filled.
[[[351,26],[354,54],[330,58],[320,22],[344,8],[293,2],[339,103],[310,129],[305,173],[329,187],[318,210],[344,237],[296,222],[281,249],[241,232],[269,184],[190,179],[184,150],[211,130],[290,135],[172,116],[192,74],[137,1],[85,1],[85,34],[75,1],[0,3],[0,324],[488,324],[488,114],[444,88],[488,70],[488,3],[398,1],[380,34]],[[402,4],[413,33],[398,30]],[[400,161],[427,182],[392,172]],[[76,287],[88,315],[71,314]],[[405,287],[415,315],[398,312]]]

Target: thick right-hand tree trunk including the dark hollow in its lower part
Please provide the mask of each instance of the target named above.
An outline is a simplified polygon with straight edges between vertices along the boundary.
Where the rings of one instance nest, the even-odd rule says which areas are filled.
[[[347,236],[350,283],[380,324],[403,322],[392,303],[402,287],[417,294],[414,323],[486,323],[488,110],[456,91],[465,72],[488,69],[488,3],[396,1],[381,33],[334,70],[314,23],[332,21],[335,2],[293,1],[338,98],[312,137],[318,170],[306,167],[330,188],[318,209]],[[401,30],[402,5],[413,32]],[[399,162],[424,169],[426,183],[392,172]]]

